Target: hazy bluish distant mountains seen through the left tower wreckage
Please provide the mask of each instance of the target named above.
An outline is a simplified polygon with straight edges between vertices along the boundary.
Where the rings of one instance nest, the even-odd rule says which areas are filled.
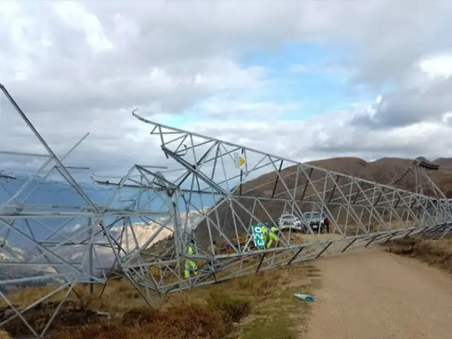
[[[0,201],[4,203],[13,192],[20,189],[26,177],[15,176],[16,179],[0,177]],[[20,206],[20,202],[25,201],[28,204],[41,205],[64,205],[64,206],[85,206],[85,201],[81,198],[71,186],[61,183],[46,180],[40,183],[40,178],[33,178],[32,184],[25,193],[22,193],[15,199],[18,202],[16,205]],[[32,194],[28,194],[30,189],[37,186]],[[112,195],[113,189],[105,189],[99,186],[85,186],[83,187],[90,199],[95,202],[107,201]],[[124,194],[121,199],[124,199]],[[129,198],[129,197],[126,197]],[[126,200],[126,199],[124,199]],[[124,205],[124,204],[123,204]],[[113,206],[112,206],[113,207]],[[114,206],[116,207],[116,206]],[[10,208],[11,210],[11,208]],[[187,228],[190,230],[195,227],[202,216],[197,212],[181,213],[182,224],[185,225],[187,220]],[[66,222],[64,227],[61,227]],[[168,237],[172,234],[174,220],[169,216],[158,218],[149,223],[133,222],[133,232],[131,227],[126,227],[123,232],[123,227],[117,225],[112,227],[109,231],[112,237],[121,243],[123,249],[126,251],[136,251],[148,242],[150,237],[153,237],[155,232],[159,230],[161,225],[165,227],[157,234],[152,242],[148,242],[148,246],[158,242],[160,239]],[[24,220],[17,219],[14,227],[23,234],[18,234],[13,230],[8,230],[8,227],[0,224],[0,280],[30,278],[38,275],[51,275],[56,273],[65,273],[70,270],[67,266],[62,266],[54,256],[45,253],[45,250],[38,248],[34,243],[30,242],[29,238],[34,238],[40,242],[44,242],[42,247],[49,248],[54,251],[60,258],[69,263],[76,263],[86,273],[90,271],[90,246],[89,241],[83,245],[66,244],[56,248],[57,244],[61,242],[83,242],[89,240],[91,233],[98,233],[93,237],[93,270],[95,274],[100,273],[100,268],[110,268],[114,264],[115,256],[111,248],[105,246],[108,244],[107,237],[102,232],[101,227],[95,225],[88,230],[86,219],[73,218],[72,220],[61,218],[40,218]],[[58,232],[56,233],[55,231]],[[25,235],[24,235],[25,234]],[[147,246],[147,247],[148,247]],[[45,256],[42,255],[45,254]],[[40,258],[37,258],[40,257]],[[14,263],[23,263],[33,261],[35,263],[57,263],[59,265],[52,266],[43,265],[14,265]],[[52,280],[35,280],[33,282],[19,282],[15,283],[14,287],[28,286],[28,285],[42,285],[49,283]]]

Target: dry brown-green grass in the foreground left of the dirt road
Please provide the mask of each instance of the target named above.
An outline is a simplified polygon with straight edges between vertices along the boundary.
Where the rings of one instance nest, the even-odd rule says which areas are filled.
[[[270,331],[265,338],[283,338],[278,333],[290,333],[291,328],[295,328],[290,314],[295,311],[298,314],[302,303],[292,293],[309,290],[309,283],[304,266],[276,268],[208,287],[174,292],[167,296],[159,309],[147,307],[126,280],[111,281],[102,298],[98,297],[100,287],[96,287],[95,294],[90,297],[88,287],[80,286],[76,292],[84,302],[71,295],[48,334],[61,339],[258,338],[256,335],[259,336],[263,328],[262,313],[270,312],[280,315],[266,322],[285,326],[285,330],[280,328],[273,334]],[[49,290],[50,287],[29,288],[8,297],[20,308]],[[34,328],[43,328],[63,295],[61,292],[49,302],[25,313],[25,318]],[[297,309],[283,307],[294,303],[298,303]],[[97,314],[96,310],[108,312],[109,317]],[[6,308],[0,309],[0,321],[5,311]],[[280,316],[287,321],[281,322]],[[13,336],[30,334],[18,319],[8,322],[4,329]],[[3,337],[0,335],[0,338]]]

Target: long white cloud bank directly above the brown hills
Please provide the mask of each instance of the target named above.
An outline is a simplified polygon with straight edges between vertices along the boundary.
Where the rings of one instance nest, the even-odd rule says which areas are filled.
[[[342,155],[367,160],[386,156],[452,155],[452,142],[444,138],[452,128],[444,123],[420,122],[386,130],[360,129],[352,125],[349,112],[325,114],[307,121],[268,124],[219,120],[192,123],[187,127],[230,142],[242,139],[250,148],[299,161]]]

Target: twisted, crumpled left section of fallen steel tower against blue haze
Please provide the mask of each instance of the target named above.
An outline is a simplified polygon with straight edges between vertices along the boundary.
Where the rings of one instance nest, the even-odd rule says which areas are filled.
[[[151,306],[152,297],[136,285],[128,262],[150,243],[137,239],[137,222],[159,228],[171,222],[166,198],[160,199],[157,189],[140,194],[121,186],[133,179],[133,169],[114,189],[78,184],[72,170],[81,167],[64,162],[88,135],[57,156],[6,88],[0,90],[5,129],[0,144],[9,148],[0,150],[0,164],[19,170],[3,169],[0,175],[0,328],[22,328],[18,334],[43,338],[64,305],[82,299],[79,287],[88,284],[92,295],[94,285],[105,287],[117,275]],[[17,130],[8,135],[6,126]],[[26,300],[23,289],[31,289]],[[55,297],[59,302],[49,302]],[[34,314],[42,304],[51,316],[35,328]]]

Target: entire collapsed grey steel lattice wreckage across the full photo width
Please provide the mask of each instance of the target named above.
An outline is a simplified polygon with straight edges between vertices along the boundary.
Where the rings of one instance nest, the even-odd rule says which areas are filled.
[[[78,284],[106,285],[119,276],[130,280],[152,306],[168,292],[413,234],[440,238],[452,230],[451,204],[428,178],[426,170],[437,169],[428,162],[416,160],[391,182],[398,184],[414,173],[414,193],[157,124],[136,113],[160,141],[169,165],[133,165],[118,182],[95,180],[97,188],[105,189],[105,198],[94,201],[64,165],[77,145],[57,157],[5,88],[0,89],[45,150],[0,152],[8,159],[42,160],[32,176],[0,172],[0,223],[6,229],[0,254],[11,247],[11,233],[33,246],[32,255],[14,258],[10,250],[0,257],[0,296],[9,309],[0,312],[0,328],[20,319],[41,338]],[[39,203],[30,201],[52,173],[78,203],[45,203],[42,194]],[[20,184],[15,192],[2,192],[6,182]],[[432,194],[422,194],[424,187]],[[328,227],[314,228],[307,213],[327,217]],[[283,219],[278,220],[282,215],[296,222],[283,227]],[[138,222],[146,225],[144,235],[138,234]],[[275,228],[267,236],[270,246],[261,246],[256,232],[266,222]],[[70,234],[64,232],[68,225]],[[38,237],[34,227],[49,232]],[[73,260],[74,251],[78,260]],[[108,265],[100,263],[100,252],[108,256]],[[20,277],[6,274],[23,267],[29,268]],[[49,286],[49,293],[19,309],[11,300],[13,292],[20,284],[37,281]],[[33,328],[26,314],[61,291],[65,297],[49,321]]]

